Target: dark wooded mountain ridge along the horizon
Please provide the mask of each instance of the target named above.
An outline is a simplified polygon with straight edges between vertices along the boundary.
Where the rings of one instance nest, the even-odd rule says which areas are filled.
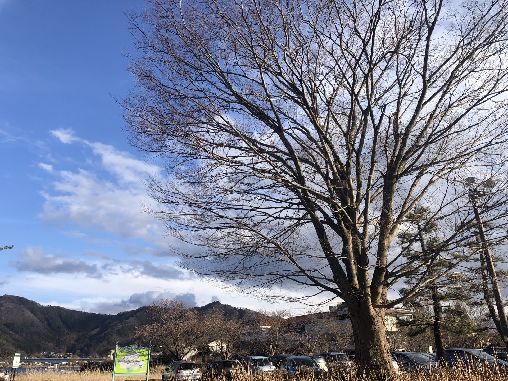
[[[14,352],[107,355],[116,341],[134,343],[136,327],[147,323],[146,308],[116,315],[43,306],[13,295],[0,296],[0,357]],[[219,302],[196,307],[202,314],[221,311],[230,319],[252,319],[258,312]]]

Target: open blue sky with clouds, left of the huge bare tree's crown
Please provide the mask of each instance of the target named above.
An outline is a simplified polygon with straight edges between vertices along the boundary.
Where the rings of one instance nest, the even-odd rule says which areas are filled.
[[[135,0],[0,0],[0,294],[114,313],[158,297],[258,308],[173,265],[126,141]]]

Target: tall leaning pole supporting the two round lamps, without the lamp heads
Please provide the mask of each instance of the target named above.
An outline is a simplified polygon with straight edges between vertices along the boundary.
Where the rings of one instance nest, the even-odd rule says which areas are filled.
[[[477,200],[480,198],[480,194],[475,192],[472,188],[469,188],[469,199],[471,200],[471,205],[474,211],[474,217],[477,220],[478,224],[478,233],[480,235],[480,241],[483,246],[483,253],[485,257],[485,264],[487,265],[487,271],[490,275],[490,284],[492,285],[492,293],[494,294],[494,300],[496,301],[497,306],[497,314],[499,316],[499,322],[501,323],[501,330],[503,332],[502,340],[504,341],[504,346],[508,351],[508,319],[506,319],[506,311],[504,310],[504,303],[501,295],[501,289],[499,288],[499,283],[497,282],[496,268],[494,266],[494,261],[490,255],[489,245],[487,244],[487,236],[485,235],[485,229],[483,226],[482,216],[480,215],[480,210],[478,209]]]

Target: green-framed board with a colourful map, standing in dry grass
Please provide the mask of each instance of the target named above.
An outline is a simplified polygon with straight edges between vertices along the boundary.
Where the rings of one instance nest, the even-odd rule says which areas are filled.
[[[115,381],[115,376],[133,375],[146,375],[146,381],[148,381],[151,347],[151,341],[148,346],[118,346],[117,341],[111,381]]]

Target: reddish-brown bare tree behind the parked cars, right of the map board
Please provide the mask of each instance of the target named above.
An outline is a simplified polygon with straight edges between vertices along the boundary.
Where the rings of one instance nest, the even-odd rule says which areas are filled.
[[[136,331],[137,341],[151,341],[155,348],[173,360],[183,360],[203,345],[210,334],[213,321],[185,303],[160,299],[148,307],[152,321]]]

